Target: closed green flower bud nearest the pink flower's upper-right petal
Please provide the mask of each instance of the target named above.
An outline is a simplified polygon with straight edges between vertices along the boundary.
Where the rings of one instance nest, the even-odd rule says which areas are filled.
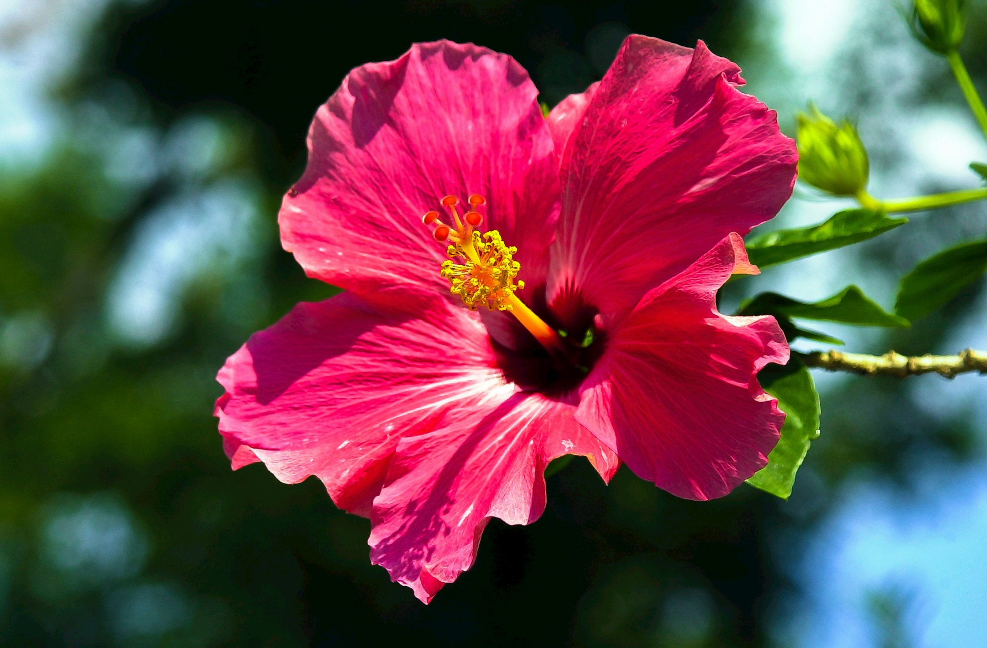
[[[839,123],[814,104],[797,115],[798,177],[834,196],[857,196],[867,188],[871,163],[854,124]]]

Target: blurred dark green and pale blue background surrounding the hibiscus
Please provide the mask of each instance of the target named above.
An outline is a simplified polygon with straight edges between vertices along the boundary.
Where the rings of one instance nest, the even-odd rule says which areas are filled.
[[[987,92],[987,3],[963,53]],[[368,561],[310,479],[231,472],[226,356],[332,294],[277,244],[316,108],[412,41],[515,56],[553,105],[637,32],[738,61],[793,132],[854,116],[872,191],[975,186],[987,161],[945,61],[883,0],[0,0],[0,643],[7,646],[977,646],[987,636],[987,378],[816,374],[822,436],[789,502],[677,500],[583,461],[533,526],[494,521],[429,607]],[[423,161],[427,163],[427,161]],[[768,227],[845,204],[799,188]],[[974,203],[731,284],[890,306]],[[975,284],[861,352],[987,347]],[[811,346],[802,347],[803,349]]]

